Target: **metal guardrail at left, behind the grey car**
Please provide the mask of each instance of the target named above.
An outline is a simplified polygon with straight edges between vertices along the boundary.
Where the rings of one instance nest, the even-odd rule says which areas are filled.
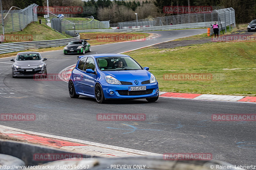
[[[66,38],[66,39],[59,39],[59,40],[4,43],[4,44],[0,44],[0,54],[27,50],[27,49],[60,47],[60,46],[67,45],[69,41],[76,40],[76,39],[80,39],[80,35],[74,38]]]

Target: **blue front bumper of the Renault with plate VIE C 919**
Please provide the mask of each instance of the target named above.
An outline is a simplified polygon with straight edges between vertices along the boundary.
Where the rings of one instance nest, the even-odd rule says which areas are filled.
[[[145,99],[157,97],[159,93],[157,82],[145,85],[111,85],[104,83],[101,86],[105,99]],[[132,86],[146,86],[146,90],[128,91],[129,87]],[[114,93],[110,94],[111,91]]]

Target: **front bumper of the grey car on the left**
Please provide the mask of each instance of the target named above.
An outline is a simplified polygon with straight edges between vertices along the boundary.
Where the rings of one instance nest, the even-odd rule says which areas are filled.
[[[30,69],[32,71],[27,71],[28,69],[14,69],[12,68],[12,76],[34,76],[34,75],[46,75],[46,69],[36,68]]]

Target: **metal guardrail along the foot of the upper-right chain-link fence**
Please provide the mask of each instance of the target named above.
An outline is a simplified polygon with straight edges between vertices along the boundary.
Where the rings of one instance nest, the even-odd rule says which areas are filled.
[[[190,23],[190,24],[179,24],[171,26],[150,26],[142,28],[127,28],[127,29],[115,29],[115,32],[135,32],[135,31],[155,31],[155,30],[174,30],[174,29],[184,29],[184,28],[209,28],[215,22],[200,22],[200,23]],[[218,23],[218,21],[216,21]],[[223,24],[224,22],[221,22]]]

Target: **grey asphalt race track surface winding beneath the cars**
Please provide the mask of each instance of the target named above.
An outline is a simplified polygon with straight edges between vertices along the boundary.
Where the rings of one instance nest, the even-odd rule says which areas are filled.
[[[205,32],[205,29],[150,32],[162,36],[94,46],[87,54],[120,53]],[[63,55],[61,50],[42,55],[48,58],[48,74],[58,74],[77,61],[77,55]],[[141,99],[98,104],[83,96],[71,99],[68,84],[63,81],[12,78],[9,59],[0,59],[0,113],[34,113],[36,120],[0,121],[1,125],[160,154],[212,153],[213,159],[231,164],[256,165],[255,122],[211,121],[212,114],[255,114],[253,103],[160,97],[154,103]],[[147,119],[97,121],[99,113],[144,113]]]

